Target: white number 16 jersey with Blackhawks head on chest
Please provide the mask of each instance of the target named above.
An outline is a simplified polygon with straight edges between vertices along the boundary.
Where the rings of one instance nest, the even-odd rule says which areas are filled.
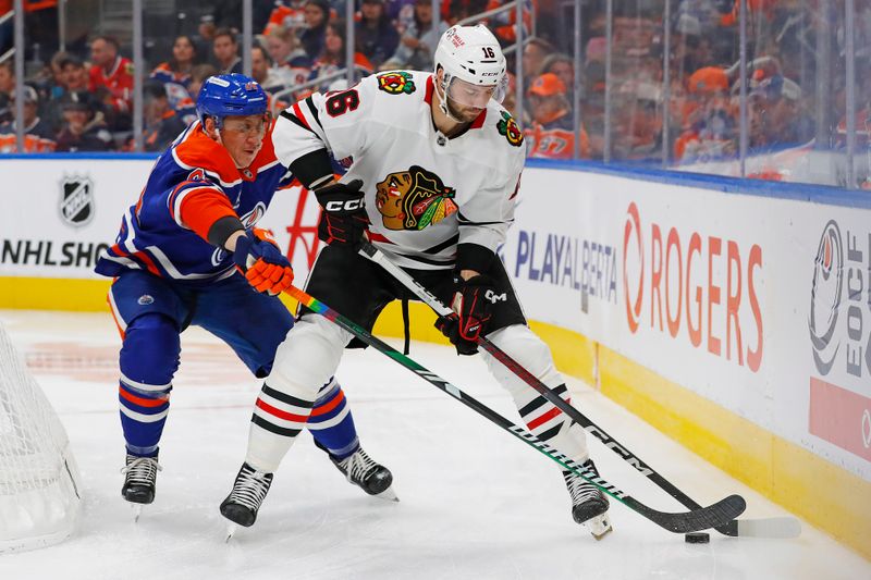
[[[284,166],[324,147],[363,181],[370,239],[396,263],[449,269],[457,244],[491,251],[505,240],[526,144],[495,101],[447,139],[433,125],[433,75],[389,72],[287,108],[272,140]]]

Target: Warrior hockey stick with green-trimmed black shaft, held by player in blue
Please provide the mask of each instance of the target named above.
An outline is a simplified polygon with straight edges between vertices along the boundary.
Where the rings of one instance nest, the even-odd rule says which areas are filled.
[[[389,344],[372,336],[372,334],[368,332],[366,329],[346,319],[345,317],[343,317],[342,314],[340,314],[326,304],[319,301],[311,295],[307,294],[305,291],[302,291],[295,286],[291,286],[284,292],[296,298],[303,306],[305,306],[309,310],[317,312],[322,317],[324,317],[327,320],[330,320],[331,322],[338,324],[339,326],[346,330],[347,332],[349,332],[364,343],[368,344],[379,353],[382,353],[388,357],[392,358],[393,360],[395,360],[406,369],[410,370],[425,381],[437,386],[441,391],[444,391],[445,393],[447,393],[449,395],[451,395],[452,397],[464,404],[466,407],[483,416],[484,418],[490,420],[490,422],[496,424],[498,427],[507,431],[508,433],[511,433],[518,440],[523,441],[530,447],[550,457],[552,460],[560,464],[563,468],[573,471],[577,476],[580,476],[581,478],[589,481],[590,483],[602,490],[604,493],[606,493],[614,499],[621,502],[622,504],[626,505],[627,507],[637,511],[638,514],[641,514],[643,517],[646,517],[653,523],[657,523],[658,526],[668,530],[670,532],[687,533],[699,530],[707,530],[709,528],[713,528],[716,526],[722,526],[723,523],[728,522],[735,517],[739,516],[747,507],[747,504],[745,503],[744,498],[739,495],[729,495],[728,497],[721,499],[720,502],[710,505],[708,507],[694,509],[691,511],[677,513],[677,514],[659,511],[651,507],[648,507],[638,499],[636,499],[635,497],[628,495],[627,493],[621,491],[613,484],[609,483],[603,478],[597,476],[591,471],[585,470],[578,464],[576,464],[562,453],[554,449],[545,442],[538,439],[536,435],[529,433],[524,428],[512,423],[510,420],[499,415],[487,405],[483,405],[477,399],[465,394],[455,385],[449,383],[438,374],[430,372],[429,370],[421,367],[410,358],[406,357],[405,355],[403,355]]]

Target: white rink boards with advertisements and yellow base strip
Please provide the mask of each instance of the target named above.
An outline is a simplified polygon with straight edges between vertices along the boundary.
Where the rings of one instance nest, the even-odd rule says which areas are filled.
[[[0,161],[0,308],[106,309],[94,261],[152,163]],[[871,558],[871,196],[533,163],[518,200],[500,252],[561,370]],[[298,280],[317,217],[291,189],[261,221]]]

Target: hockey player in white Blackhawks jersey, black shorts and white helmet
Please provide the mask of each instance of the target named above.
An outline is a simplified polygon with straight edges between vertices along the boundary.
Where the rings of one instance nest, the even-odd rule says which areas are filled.
[[[452,305],[457,317],[440,319],[439,326],[458,354],[476,354],[478,336],[486,335],[568,400],[550,349],[526,324],[495,255],[514,219],[526,157],[520,128],[499,104],[507,85],[505,58],[484,26],[454,26],[441,37],[434,61],[434,73],[372,75],[281,113],[275,153],[323,208],[319,235],[328,245],[306,292],[367,330],[390,301],[414,299],[357,254],[367,236]],[[349,162],[340,182],[330,155]],[[335,372],[343,349],[359,346],[355,343],[346,331],[304,310],[267,382],[287,397],[308,399]],[[530,431],[594,469],[584,430],[490,354],[481,356]],[[252,424],[245,461],[266,482],[262,495],[293,442]],[[575,521],[587,523],[597,538],[610,531],[605,496],[572,472],[563,476]],[[234,493],[238,486],[237,481]],[[224,503],[232,504],[232,496]]]

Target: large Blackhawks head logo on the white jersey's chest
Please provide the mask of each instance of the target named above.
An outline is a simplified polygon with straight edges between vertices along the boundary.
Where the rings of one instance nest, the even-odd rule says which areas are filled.
[[[375,205],[388,230],[419,231],[457,210],[455,189],[419,165],[391,173],[376,189]]]

